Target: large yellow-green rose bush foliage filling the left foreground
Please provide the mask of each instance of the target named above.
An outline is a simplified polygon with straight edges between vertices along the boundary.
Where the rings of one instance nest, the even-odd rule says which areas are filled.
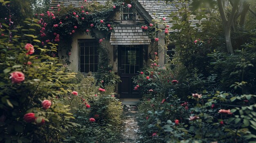
[[[70,92],[66,88],[72,86],[68,81],[75,77],[75,73],[66,73],[58,58],[47,55],[56,52],[55,44],[49,43],[44,48],[37,45],[40,41],[31,34],[38,26],[37,21],[27,19],[26,27],[16,29],[3,24],[5,28],[1,29],[4,36],[0,37],[0,142],[59,143],[65,137],[63,132],[78,126],[71,121],[74,117],[67,106],[55,99]],[[34,45],[34,54],[26,54],[24,47],[27,43]],[[9,77],[14,71],[22,72],[25,80],[12,83]],[[51,108],[42,108],[44,99],[52,101]],[[28,112],[35,113],[35,122],[23,120]]]

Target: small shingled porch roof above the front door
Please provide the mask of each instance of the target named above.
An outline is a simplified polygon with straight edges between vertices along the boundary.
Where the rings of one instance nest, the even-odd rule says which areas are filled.
[[[119,25],[111,32],[111,45],[150,45],[151,40],[139,26]]]

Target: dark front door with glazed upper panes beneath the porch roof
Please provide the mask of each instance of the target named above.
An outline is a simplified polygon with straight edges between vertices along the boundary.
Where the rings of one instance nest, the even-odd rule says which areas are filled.
[[[138,75],[143,63],[142,46],[122,45],[118,47],[118,73],[121,77],[119,84],[120,98],[141,98],[139,90],[134,90],[132,77]]]

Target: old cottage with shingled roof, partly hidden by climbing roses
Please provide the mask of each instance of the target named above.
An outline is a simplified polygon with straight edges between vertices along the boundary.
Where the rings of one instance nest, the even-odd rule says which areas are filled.
[[[111,0],[96,0],[100,4],[106,4]],[[50,7],[56,8],[58,4],[74,7],[81,7],[84,0],[52,0]],[[90,0],[87,0],[90,2]],[[101,44],[108,48],[110,53],[108,59],[114,68],[114,72],[121,77],[118,94],[121,98],[139,97],[139,92],[132,90],[131,77],[137,75],[140,68],[150,63],[149,59],[159,59],[159,65],[164,65],[166,54],[172,57],[175,46],[165,47],[164,31],[157,33],[159,40],[151,40],[147,33],[141,29],[143,23],[149,24],[153,19],[166,18],[172,11],[176,11],[175,2],[166,4],[165,0],[126,0],[131,4],[130,8],[121,8],[109,15],[108,20],[115,22],[110,37],[107,37]],[[170,23],[171,25],[171,23]],[[163,27],[164,29],[165,27]],[[97,32],[97,31],[94,31]],[[98,31],[98,34],[101,34]],[[106,37],[106,35],[101,35]],[[60,43],[61,46],[61,43]],[[81,73],[97,72],[99,57],[97,47],[99,41],[92,35],[76,33],[72,42],[72,55],[69,60],[70,69]],[[59,55],[65,55],[65,51],[59,51]]]

